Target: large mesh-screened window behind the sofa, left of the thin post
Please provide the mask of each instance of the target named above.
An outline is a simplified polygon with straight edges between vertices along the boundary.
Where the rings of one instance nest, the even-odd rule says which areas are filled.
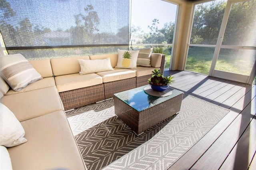
[[[33,59],[128,49],[129,0],[0,2],[0,31],[9,54]]]

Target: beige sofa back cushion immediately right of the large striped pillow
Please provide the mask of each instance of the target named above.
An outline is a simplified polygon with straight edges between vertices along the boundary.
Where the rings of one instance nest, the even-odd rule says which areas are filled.
[[[53,76],[50,59],[31,60],[29,62],[43,78]]]

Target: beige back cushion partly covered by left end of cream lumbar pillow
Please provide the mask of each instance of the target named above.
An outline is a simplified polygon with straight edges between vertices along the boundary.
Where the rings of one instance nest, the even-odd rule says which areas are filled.
[[[78,59],[90,59],[89,56],[52,58],[52,72],[54,76],[79,73],[81,70]]]

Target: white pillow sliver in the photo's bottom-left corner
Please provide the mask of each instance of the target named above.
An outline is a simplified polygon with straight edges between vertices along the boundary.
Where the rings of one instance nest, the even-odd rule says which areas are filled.
[[[12,170],[12,162],[6,147],[0,146],[0,167],[1,170]]]

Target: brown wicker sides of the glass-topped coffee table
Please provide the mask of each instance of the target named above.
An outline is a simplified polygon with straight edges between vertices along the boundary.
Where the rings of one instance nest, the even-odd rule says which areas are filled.
[[[144,111],[136,111],[114,96],[115,114],[137,135],[180,112],[183,93]]]

